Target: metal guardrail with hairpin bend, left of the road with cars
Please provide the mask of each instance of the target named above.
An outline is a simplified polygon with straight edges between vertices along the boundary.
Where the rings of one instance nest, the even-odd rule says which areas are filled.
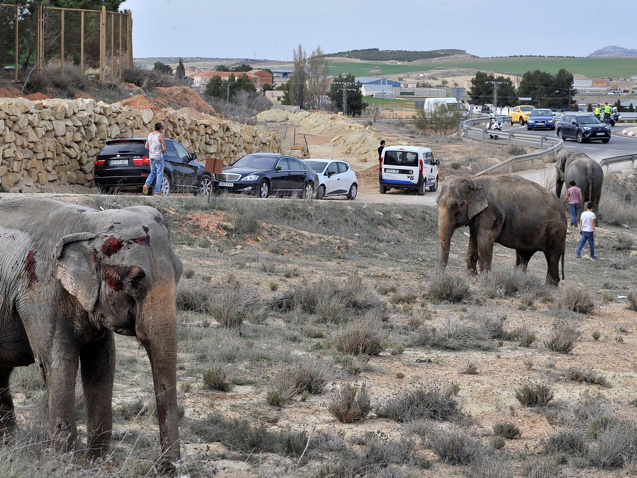
[[[498,118],[502,118],[505,121],[511,122],[510,116],[501,116]],[[477,127],[474,125],[485,123],[485,122],[489,122],[488,117],[472,118],[472,119],[465,120],[458,125],[458,134],[462,134],[464,132],[464,137],[468,138],[469,131],[474,131],[476,133],[482,134],[482,141],[484,141],[485,136],[487,134],[495,135],[494,131],[489,131],[488,129],[485,129],[483,127]],[[531,168],[533,168],[533,165],[534,165],[533,163],[536,159],[540,159],[541,157],[545,157],[545,156],[550,156],[552,154],[557,156],[557,151],[559,151],[562,145],[564,144],[564,141],[561,140],[560,138],[557,138],[557,136],[543,136],[543,135],[538,136],[537,134],[512,133],[510,131],[497,131],[497,136],[507,136],[508,145],[510,145],[511,141],[515,139],[522,139],[525,141],[538,141],[540,143],[539,144],[540,151],[535,153],[530,153],[530,154],[522,154],[520,156],[512,156],[508,159],[505,159],[505,161],[501,161],[501,163],[494,164],[490,168],[487,168],[486,170],[476,173],[475,175],[473,175],[474,177],[482,176],[484,174],[492,174],[494,171],[505,168],[506,166],[508,166],[509,173],[512,173],[513,163],[521,163],[522,161],[531,161]],[[552,146],[547,149],[544,149],[544,143],[548,143]],[[557,160],[557,157],[555,159]]]

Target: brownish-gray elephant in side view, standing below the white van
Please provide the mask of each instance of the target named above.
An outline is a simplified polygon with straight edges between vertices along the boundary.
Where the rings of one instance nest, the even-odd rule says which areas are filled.
[[[515,175],[475,179],[447,178],[438,202],[440,267],[449,259],[454,229],[469,226],[466,263],[469,273],[491,268],[495,242],[515,249],[515,265],[526,270],[533,254],[547,258],[547,282],[559,284],[559,261],[566,248],[566,216],[553,194],[539,184]]]

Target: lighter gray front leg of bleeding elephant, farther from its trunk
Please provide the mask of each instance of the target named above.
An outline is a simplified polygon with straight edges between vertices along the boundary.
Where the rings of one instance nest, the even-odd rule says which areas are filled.
[[[78,373],[78,350],[71,342],[72,333],[56,331],[50,351],[38,351],[46,357],[43,364],[48,392],[48,437],[52,447],[71,451],[77,439],[75,423],[75,377]]]

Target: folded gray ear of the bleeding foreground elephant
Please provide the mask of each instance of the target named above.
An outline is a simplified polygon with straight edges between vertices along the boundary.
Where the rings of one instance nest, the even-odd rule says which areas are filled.
[[[64,236],[56,245],[53,258],[53,277],[74,296],[84,310],[91,312],[99,294],[99,279],[92,259],[89,242],[94,233],[76,233]]]

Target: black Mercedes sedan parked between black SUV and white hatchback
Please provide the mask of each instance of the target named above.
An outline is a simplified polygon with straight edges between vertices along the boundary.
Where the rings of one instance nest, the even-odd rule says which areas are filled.
[[[230,164],[213,178],[214,191],[254,194],[301,194],[309,199],[315,194],[317,173],[306,168],[296,157],[277,153],[247,154]]]

